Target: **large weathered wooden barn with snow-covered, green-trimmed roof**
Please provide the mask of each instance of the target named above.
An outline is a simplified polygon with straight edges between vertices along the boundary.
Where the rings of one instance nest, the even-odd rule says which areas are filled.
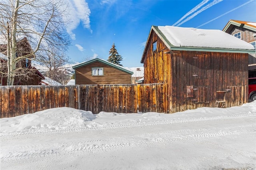
[[[220,30],[152,26],[141,63],[144,83],[169,84],[169,113],[248,101],[254,47]]]

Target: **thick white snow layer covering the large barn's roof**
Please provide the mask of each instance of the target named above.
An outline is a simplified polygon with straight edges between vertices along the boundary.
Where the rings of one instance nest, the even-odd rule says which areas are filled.
[[[196,29],[174,26],[157,27],[166,39],[176,47],[254,50],[251,44],[217,29]]]

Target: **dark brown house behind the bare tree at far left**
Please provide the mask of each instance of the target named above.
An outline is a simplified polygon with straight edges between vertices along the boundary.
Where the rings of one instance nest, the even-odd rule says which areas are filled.
[[[6,86],[7,84],[7,45],[0,45],[0,71],[5,74],[0,74],[0,85]],[[33,66],[31,66],[31,58],[34,58],[32,54],[31,46],[28,39],[24,37],[17,42],[17,57],[30,55],[28,59],[23,59],[16,64],[16,68],[24,68],[22,72],[17,74],[24,74],[15,76],[14,85],[41,85],[41,81],[44,76]]]

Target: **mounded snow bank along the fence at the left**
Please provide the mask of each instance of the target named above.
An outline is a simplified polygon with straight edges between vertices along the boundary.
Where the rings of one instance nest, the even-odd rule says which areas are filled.
[[[81,127],[84,126],[84,122],[95,118],[96,116],[91,111],[58,107],[16,117],[2,118],[0,123],[1,132],[22,132],[40,129],[58,130],[70,126]]]

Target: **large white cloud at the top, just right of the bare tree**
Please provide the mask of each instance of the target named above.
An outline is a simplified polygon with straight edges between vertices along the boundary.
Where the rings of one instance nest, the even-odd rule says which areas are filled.
[[[76,39],[76,35],[73,33],[73,30],[78,27],[80,22],[82,22],[84,28],[87,28],[92,33],[92,29],[90,28],[91,11],[87,2],[85,0],[66,1],[68,2],[68,7],[65,9],[67,15],[63,17],[63,20],[68,21],[66,30],[71,39]]]

